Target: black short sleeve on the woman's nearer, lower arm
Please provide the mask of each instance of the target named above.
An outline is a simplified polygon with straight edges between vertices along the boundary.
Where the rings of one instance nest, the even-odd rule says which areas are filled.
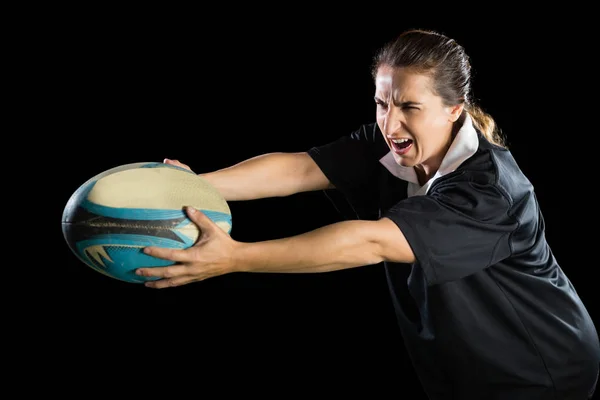
[[[446,180],[429,194],[402,200],[382,214],[409,242],[429,285],[484,270],[511,253],[518,224],[510,199],[492,183]]]

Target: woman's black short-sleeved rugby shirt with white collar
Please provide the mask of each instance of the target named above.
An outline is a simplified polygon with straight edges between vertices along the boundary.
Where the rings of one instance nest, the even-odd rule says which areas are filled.
[[[384,268],[432,398],[537,398],[590,379],[598,334],[546,242],[534,188],[468,115],[423,187],[374,123],[308,153],[349,218],[389,218],[412,247],[416,263]]]

